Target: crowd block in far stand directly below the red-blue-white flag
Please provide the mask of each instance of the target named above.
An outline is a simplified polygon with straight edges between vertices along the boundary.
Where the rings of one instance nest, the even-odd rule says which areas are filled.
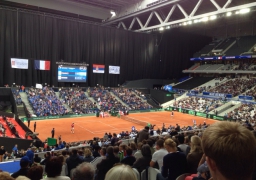
[[[109,88],[103,86],[89,89],[90,97],[99,104],[100,110],[108,111],[111,109],[124,111],[126,107],[110,93]]]

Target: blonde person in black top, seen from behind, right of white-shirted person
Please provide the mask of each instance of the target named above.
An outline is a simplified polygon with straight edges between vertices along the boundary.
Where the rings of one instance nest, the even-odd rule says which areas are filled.
[[[164,146],[169,154],[164,156],[162,172],[157,174],[157,180],[175,180],[187,171],[186,155],[177,151],[176,143],[170,138],[165,140]]]

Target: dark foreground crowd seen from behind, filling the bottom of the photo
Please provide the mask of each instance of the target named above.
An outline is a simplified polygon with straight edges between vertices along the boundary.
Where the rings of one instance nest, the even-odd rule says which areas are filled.
[[[243,106],[243,108],[246,108],[246,106]],[[194,174],[193,180],[208,180],[211,177],[218,176],[218,173],[215,174],[215,169],[212,169],[213,166],[208,161],[209,158],[217,158],[217,160],[223,161],[222,156],[227,156],[224,149],[227,148],[228,152],[232,154],[241,151],[241,149],[236,150],[237,148],[246,148],[242,151],[248,151],[249,157],[245,154],[240,156],[232,154],[229,162],[221,161],[225,166],[227,164],[231,165],[230,162],[234,163],[231,165],[233,168],[239,166],[240,169],[236,168],[236,172],[233,171],[233,168],[229,171],[232,174],[228,177],[234,179],[234,177],[244,172],[244,169],[241,168],[242,165],[248,165],[246,166],[246,172],[250,172],[247,174],[248,177],[252,176],[254,170],[252,164],[254,163],[253,154],[255,154],[256,142],[253,133],[248,129],[255,130],[256,124],[250,122],[219,122],[209,126],[204,122],[198,126],[194,124],[192,129],[189,127],[181,128],[178,124],[165,128],[163,124],[161,133],[164,136],[152,136],[151,132],[153,131],[154,134],[158,130],[154,130],[154,126],[146,126],[140,131],[132,128],[130,133],[121,132],[120,134],[113,133],[113,135],[105,133],[101,139],[94,138],[90,141],[76,143],[76,147],[72,150],[70,145],[59,139],[58,144],[54,147],[49,147],[45,142],[45,148],[35,148],[31,144],[27,151],[19,151],[18,146],[15,145],[12,153],[7,153],[2,146],[0,152],[4,152],[4,158],[7,159],[8,157],[10,159],[21,157],[21,169],[11,175],[13,178],[26,176],[34,180],[35,174],[37,174],[38,179],[46,177],[46,179],[64,180],[86,178],[88,180],[110,180],[113,177],[116,179],[124,176],[122,171],[126,169],[130,178],[139,180],[137,173],[142,173],[147,167],[153,167],[159,170],[157,180],[176,180],[178,176],[184,173]],[[131,133],[134,135],[134,142],[124,143],[123,138],[129,137]],[[231,138],[232,142],[227,141],[227,137]],[[250,146],[246,146],[245,144],[249,139]],[[221,148],[221,152],[219,148]],[[250,148],[252,149],[249,150]],[[216,150],[222,153],[219,154],[222,158],[215,156],[215,153],[210,154],[211,151],[215,152]],[[38,156],[40,152],[45,153],[43,158]],[[239,162],[236,159],[239,159]],[[35,173],[34,168],[38,168],[40,171]],[[119,173],[115,173],[116,170]],[[241,177],[245,177],[245,173],[240,175],[239,178]]]

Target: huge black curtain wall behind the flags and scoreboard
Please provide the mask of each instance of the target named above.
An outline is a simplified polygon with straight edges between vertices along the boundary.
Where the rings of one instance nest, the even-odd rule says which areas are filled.
[[[58,83],[56,62],[61,60],[90,65],[87,82],[79,86],[111,87],[127,80],[174,78],[188,68],[193,53],[208,42],[202,39],[208,40],[178,31],[163,35],[134,33],[0,9],[0,86],[14,82],[25,86],[70,86]],[[10,58],[29,59],[29,69],[12,69]],[[35,59],[50,60],[51,70],[35,70]],[[92,64],[104,64],[105,73],[92,73]],[[108,74],[109,65],[120,66],[121,74]]]

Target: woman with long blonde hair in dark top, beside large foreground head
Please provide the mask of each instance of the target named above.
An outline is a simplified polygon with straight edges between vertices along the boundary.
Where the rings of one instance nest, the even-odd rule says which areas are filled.
[[[187,155],[188,173],[196,174],[198,164],[203,156],[202,141],[199,136],[192,136],[190,152]]]

